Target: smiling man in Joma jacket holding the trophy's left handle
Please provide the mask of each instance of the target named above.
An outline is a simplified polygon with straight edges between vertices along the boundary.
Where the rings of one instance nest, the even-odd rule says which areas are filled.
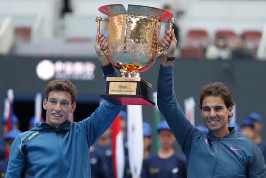
[[[117,76],[101,52],[108,46],[97,35],[95,49],[104,77]],[[43,107],[46,122],[20,134],[13,142],[6,178],[10,177],[90,177],[89,148],[111,125],[122,105],[105,101],[88,118],[70,123],[76,109],[76,88],[69,80],[50,81],[45,89]]]

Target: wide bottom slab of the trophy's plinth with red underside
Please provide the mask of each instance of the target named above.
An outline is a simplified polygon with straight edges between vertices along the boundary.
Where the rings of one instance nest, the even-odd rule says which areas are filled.
[[[129,95],[129,94],[100,94],[103,99],[114,102],[121,103],[123,105],[146,105],[154,106],[155,103],[150,101],[148,98],[142,95]]]

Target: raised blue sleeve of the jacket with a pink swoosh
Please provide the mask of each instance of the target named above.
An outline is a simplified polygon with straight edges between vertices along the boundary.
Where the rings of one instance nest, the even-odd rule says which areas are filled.
[[[201,131],[190,124],[177,102],[173,75],[173,66],[160,66],[157,82],[157,104],[182,151],[188,157],[193,138],[199,135]]]

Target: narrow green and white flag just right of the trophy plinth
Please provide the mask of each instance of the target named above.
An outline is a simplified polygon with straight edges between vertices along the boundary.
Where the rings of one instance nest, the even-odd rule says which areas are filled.
[[[157,105],[157,92],[153,92],[152,96],[153,96],[153,101],[155,103],[154,112],[153,112],[154,119],[153,119],[153,126],[152,126],[152,140],[153,140],[154,151],[155,153],[157,153],[161,147],[158,134],[157,134],[157,128],[158,128],[159,123],[161,122],[161,116],[160,116],[160,111]]]

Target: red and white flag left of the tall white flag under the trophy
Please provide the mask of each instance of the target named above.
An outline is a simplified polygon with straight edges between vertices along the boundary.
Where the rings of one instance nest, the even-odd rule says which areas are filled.
[[[112,151],[115,178],[124,176],[124,143],[123,131],[120,125],[120,114],[111,125],[112,128]]]

